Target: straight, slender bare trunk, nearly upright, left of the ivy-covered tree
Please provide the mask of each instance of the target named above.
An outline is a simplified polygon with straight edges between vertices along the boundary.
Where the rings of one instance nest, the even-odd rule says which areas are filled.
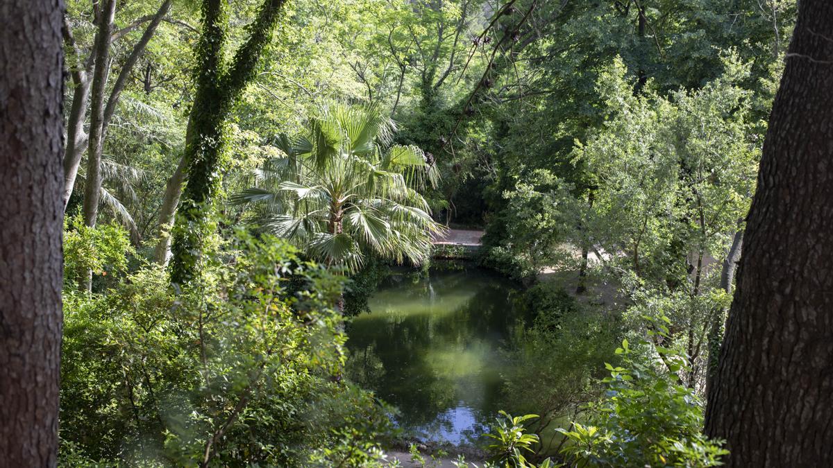
[[[98,15],[95,69],[92,72],[92,116],[87,147],[87,184],[84,187],[84,224],[96,226],[98,202],[102,187],[101,158],[104,123],[104,90],[110,73],[110,41],[116,0],[105,0]],[[89,290],[89,287],[87,287]]]

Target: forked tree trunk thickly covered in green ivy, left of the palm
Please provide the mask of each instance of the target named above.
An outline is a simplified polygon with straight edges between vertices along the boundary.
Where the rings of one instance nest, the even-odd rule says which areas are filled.
[[[225,0],[203,0],[202,36],[197,45],[197,92],[185,142],[185,187],[172,237],[171,280],[184,284],[198,275],[206,237],[214,229],[217,188],[225,167],[226,119],[272,37],[284,0],[265,0],[248,27],[249,37],[230,64],[223,60],[226,43]]]

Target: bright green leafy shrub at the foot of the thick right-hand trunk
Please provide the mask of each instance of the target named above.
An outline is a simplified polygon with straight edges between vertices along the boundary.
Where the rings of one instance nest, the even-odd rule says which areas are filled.
[[[627,340],[616,354],[621,366],[605,365],[608,390],[590,406],[589,423],[559,430],[571,442],[563,449],[569,466],[719,466],[728,452],[701,434],[701,403],[676,376],[685,356]],[[659,370],[663,363],[670,372]]]

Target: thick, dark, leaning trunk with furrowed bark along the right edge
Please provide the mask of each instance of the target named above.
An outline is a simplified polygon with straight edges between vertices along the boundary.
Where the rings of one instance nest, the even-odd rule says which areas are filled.
[[[833,466],[831,38],[801,0],[706,411],[727,466]]]

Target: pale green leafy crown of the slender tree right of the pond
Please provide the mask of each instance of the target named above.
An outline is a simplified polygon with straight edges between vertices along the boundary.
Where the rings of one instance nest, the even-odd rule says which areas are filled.
[[[610,117],[575,152],[598,187],[585,225],[605,251],[627,252],[637,276],[685,282],[684,256],[726,249],[748,209],[760,150],[736,86],[746,74],[729,55],[721,78],[669,98],[633,96],[621,62],[601,75]]]

